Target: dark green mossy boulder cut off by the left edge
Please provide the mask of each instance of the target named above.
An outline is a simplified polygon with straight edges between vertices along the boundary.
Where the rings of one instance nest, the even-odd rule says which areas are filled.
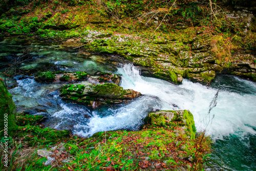
[[[12,96],[8,92],[5,83],[0,79],[0,135],[1,137],[13,136],[13,131],[18,126],[15,123],[16,107],[12,101]]]

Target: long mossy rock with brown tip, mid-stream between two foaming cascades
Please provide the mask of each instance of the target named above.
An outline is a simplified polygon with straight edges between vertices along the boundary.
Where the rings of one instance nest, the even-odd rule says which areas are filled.
[[[140,97],[141,93],[122,87],[114,83],[97,85],[65,85],[60,88],[60,96],[65,100],[89,104],[94,109],[100,104],[117,104]]]

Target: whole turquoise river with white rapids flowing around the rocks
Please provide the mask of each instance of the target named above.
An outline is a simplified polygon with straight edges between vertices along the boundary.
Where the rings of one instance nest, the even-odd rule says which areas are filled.
[[[256,169],[256,83],[234,76],[218,76],[210,87],[184,79],[176,85],[143,77],[140,71],[118,56],[81,53],[36,40],[6,39],[0,42],[0,66],[29,48],[31,58],[17,66],[9,92],[17,111],[45,115],[46,126],[70,129],[82,137],[109,130],[138,130],[149,112],[189,110],[194,115],[198,132],[205,131],[215,142],[206,170]],[[110,59],[111,58],[111,59]],[[37,70],[112,72],[121,74],[120,86],[143,94],[130,103],[104,106],[92,110],[83,105],[62,101],[56,91],[63,83],[38,83]],[[84,83],[84,82],[83,82]],[[215,102],[215,105],[211,102]],[[210,112],[209,112],[209,109]]]

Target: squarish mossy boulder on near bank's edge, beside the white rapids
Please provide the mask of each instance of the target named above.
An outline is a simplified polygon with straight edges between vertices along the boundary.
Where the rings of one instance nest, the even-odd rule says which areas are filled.
[[[193,114],[188,110],[181,111],[159,111],[148,114],[146,122],[157,126],[180,127],[177,132],[188,134],[190,139],[195,139],[196,126]]]

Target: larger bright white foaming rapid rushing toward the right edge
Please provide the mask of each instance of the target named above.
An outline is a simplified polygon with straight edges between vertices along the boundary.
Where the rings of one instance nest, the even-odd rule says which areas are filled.
[[[220,91],[217,105],[211,110],[209,116],[209,104],[217,93],[217,89],[186,79],[177,86],[164,80],[143,77],[132,65],[125,65],[118,72],[123,75],[121,87],[159,97],[162,104],[161,110],[172,110],[173,104],[180,110],[189,110],[194,115],[197,131],[206,130],[212,138],[223,138],[229,134],[256,134],[252,129],[252,126],[256,126],[255,94],[243,95]],[[248,80],[245,82],[254,88],[256,86],[254,82]]]

